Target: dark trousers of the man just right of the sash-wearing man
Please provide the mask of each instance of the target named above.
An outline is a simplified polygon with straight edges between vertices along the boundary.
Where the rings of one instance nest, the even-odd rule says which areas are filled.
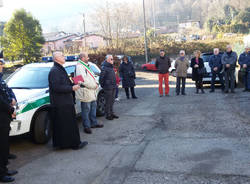
[[[105,89],[104,90],[105,93],[105,114],[106,117],[112,116],[114,114],[113,111],[113,105],[115,102],[115,93],[116,93],[116,89]]]

